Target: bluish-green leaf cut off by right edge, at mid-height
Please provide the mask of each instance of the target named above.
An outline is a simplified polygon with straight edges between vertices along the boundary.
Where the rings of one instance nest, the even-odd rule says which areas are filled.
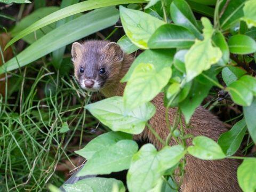
[[[256,143],[256,99],[254,98],[251,106],[243,107],[243,111],[247,129],[251,135],[252,140],[254,143]]]

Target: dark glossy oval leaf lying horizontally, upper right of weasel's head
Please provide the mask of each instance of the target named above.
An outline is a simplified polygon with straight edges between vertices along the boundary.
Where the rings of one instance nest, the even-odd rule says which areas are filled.
[[[150,49],[190,47],[195,42],[195,36],[186,28],[166,24],[160,26],[148,41]]]

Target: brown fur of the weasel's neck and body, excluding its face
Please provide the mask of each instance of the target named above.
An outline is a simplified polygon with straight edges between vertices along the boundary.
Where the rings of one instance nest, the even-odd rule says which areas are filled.
[[[102,43],[102,41],[94,41],[93,44],[97,46]],[[91,44],[91,46],[94,46]],[[83,46],[88,46],[86,43]],[[88,49],[91,52],[90,49]],[[107,60],[108,65],[111,65],[111,76],[108,76],[107,82],[101,88],[100,92],[105,95],[105,97],[112,97],[115,95],[123,95],[125,84],[119,83],[121,78],[125,75],[129,69],[133,57],[132,55],[124,55],[124,60],[122,62],[116,62],[113,60],[113,55],[115,51],[105,50],[102,51],[105,60]],[[81,58],[81,56],[79,56]],[[86,59],[86,58],[85,58]],[[97,64],[94,64],[97,65]],[[76,68],[76,63],[75,63]],[[163,104],[163,94],[158,94],[152,101],[157,107],[156,114],[150,119],[149,123],[153,129],[161,136],[163,140],[166,139],[169,134],[169,129],[166,127],[165,122],[165,107]],[[169,111],[169,121],[173,122],[174,116],[177,109],[171,108]],[[190,120],[191,128],[185,129],[186,133],[197,135],[205,135],[213,140],[217,141],[219,135],[226,132],[226,127],[218,120],[210,111],[204,109],[203,107],[198,107],[195,111],[193,117]],[[148,139],[152,142],[158,149],[162,148],[161,142],[159,142],[147,128],[140,135],[135,136],[136,139]],[[171,140],[171,145],[177,144],[175,140]],[[188,139],[188,145],[191,145],[191,139]],[[186,156],[186,167],[185,176],[182,182],[180,190],[183,192],[208,192],[208,191],[241,191],[236,180],[236,170],[239,162],[233,159],[223,159],[218,161],[203,161],[201,159],[195,158],[193,156]],[[175,178],[177,181],[179,178]]]

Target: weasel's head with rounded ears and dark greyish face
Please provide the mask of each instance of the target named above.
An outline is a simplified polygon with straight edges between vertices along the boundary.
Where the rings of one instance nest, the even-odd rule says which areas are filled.
[[[118,44],[108,41],[75,42],[71,55],[76,79],[83,89],[100,91],[119,82],[124,52]]]

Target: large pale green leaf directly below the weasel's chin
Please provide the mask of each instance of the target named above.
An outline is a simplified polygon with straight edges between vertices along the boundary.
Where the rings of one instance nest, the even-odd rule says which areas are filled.
[[[126,111],[122,97],[104,99],[87,105],[85,108],[111,130],[132,134],[141,133],[146,122],[153,117],[156,111],[151,103],[145,103],[132,111]]]

